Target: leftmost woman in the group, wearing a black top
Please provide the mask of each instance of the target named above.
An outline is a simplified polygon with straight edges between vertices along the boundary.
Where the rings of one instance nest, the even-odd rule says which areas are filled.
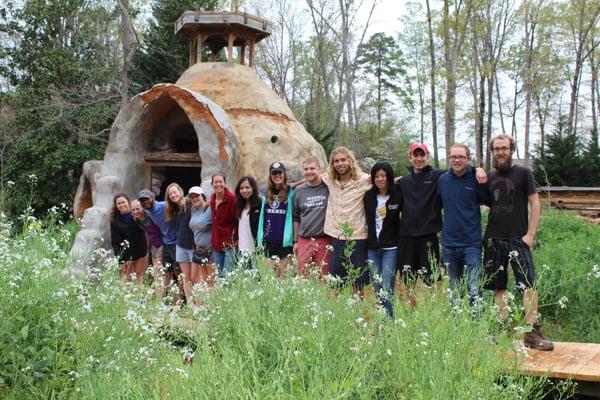
[[[134,221],[131,214],[129,197],[118,193],[113,198],[113,208],[110,213],[110,242],[115,256],[119,260],[121,282],[125,283],[132,273],[136,274],[136,283],[142,282],[142,277],[148,260],[146,255],[146,235]]]

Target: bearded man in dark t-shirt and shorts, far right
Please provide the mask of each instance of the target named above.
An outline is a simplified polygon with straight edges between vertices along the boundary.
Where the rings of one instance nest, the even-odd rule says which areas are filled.
[[[532,326],[523,337],[527,347],[553,350],[544,338],[538,323],[538,295],[534,288],[535,268],[531,256],[540,217],[540,200],[531,170],[512,164],[515,141],[508,135],[498,135],[490,142],[494,171],[488,174],[491,210],[485,234],[484,287],[494,291],[494,301],[500,316],[506,320],[508,267],[515,274],[517,290],[523,293],[525,322]],[[530,208],[528,215],[527,209]]]

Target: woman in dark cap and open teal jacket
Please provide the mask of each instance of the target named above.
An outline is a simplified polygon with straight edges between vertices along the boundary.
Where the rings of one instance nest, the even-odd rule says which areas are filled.
[[[285,166],[274,162],[269,167],[267,197],[262,200],[260,209],[257,244],[264,245],[269,263],[275,265],[279,259],[280,277],[285,276],[288,257],[293,254],[293,195],[294,189],[288,185]]]

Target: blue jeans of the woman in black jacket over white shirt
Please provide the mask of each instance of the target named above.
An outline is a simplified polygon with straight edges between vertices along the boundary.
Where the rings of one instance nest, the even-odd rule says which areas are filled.
[[[369,249],[367,259],[377,302],[394,318],[394,286],[396,285],[396,259],[398,249]]]

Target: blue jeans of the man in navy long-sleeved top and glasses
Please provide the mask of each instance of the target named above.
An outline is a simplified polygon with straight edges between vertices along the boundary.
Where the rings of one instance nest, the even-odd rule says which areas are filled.
[[[473,306],[481,299],[481,246],[444,246],[442,259],[450,275],[453,301],[456,300],[456,287],[466,284],[469,304]]]

